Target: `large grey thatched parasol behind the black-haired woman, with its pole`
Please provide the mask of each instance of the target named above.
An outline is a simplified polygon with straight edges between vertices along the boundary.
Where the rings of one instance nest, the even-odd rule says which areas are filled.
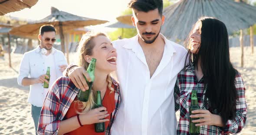
[[[236,0],[240,2],[240,0]],[[229,34],[256,23],[256,7],[233,0],[181,0],[164,9],[165,24],[161,32],[172,40],[184,40],[201,16],[211,16],[226,24]],[[241,34],[243,32],[241,31]],[[240,38],[243,36],[241,35]],[[240,40],[241,43],[243,39]],[[243,45],[241,66],[243,67]]]

